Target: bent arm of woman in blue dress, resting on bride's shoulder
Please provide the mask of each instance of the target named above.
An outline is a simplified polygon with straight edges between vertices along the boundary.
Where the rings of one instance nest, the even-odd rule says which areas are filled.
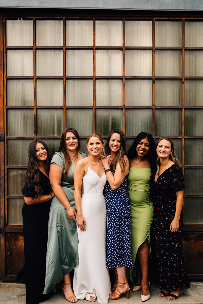
[[[108,159],[101,159],[104,170],[110,169]],[[128,158],[124,157],[124,161],[126,164],[125,172],[122,174],[121,166],[119,162],[117,162],[115,173],[113,174],[111,171],[106,172],[107,181],[112,190],[116,190],[122,184],[125,176],[128,174],[129,171],[129,162]]]

